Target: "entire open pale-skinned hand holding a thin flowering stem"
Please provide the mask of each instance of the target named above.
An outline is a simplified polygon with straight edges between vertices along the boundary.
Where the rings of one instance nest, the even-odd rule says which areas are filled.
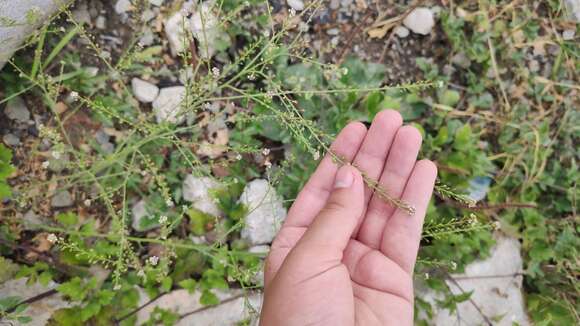
[[[399,113],[347,125],[272,243],[260,325],[411,325],[413,268],[437,168],[417,161],[421,134]],[[356,168],[355,168],[356,166]],[[415,214],[386,203],[360,171]]]

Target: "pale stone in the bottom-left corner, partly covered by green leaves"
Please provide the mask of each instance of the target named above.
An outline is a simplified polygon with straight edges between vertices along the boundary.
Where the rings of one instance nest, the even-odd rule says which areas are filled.
[[[26,281],[26,278],[20,278],[1,284],[0,298],[17,296],[25,300],[50,291],[58,286],[54,282],[50,282],[47,286],[43,286],[38,282],[29,285],[26,284]],[[22,314],[32,318],[32,321],[26,324],[27,326],[41,326],[47,325],[48,319],[52,316],[53,312],[70,306],[72,304],[65,301],[59,293],[56,293],[29,304],[28,308]],[[16,323],[16,325],[20,324]]]

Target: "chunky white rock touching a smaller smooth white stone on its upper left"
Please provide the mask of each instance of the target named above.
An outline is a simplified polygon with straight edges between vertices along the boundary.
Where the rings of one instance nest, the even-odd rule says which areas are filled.
[[[180,114],[180,111],[184,97],[185,87],[183,86],[162,88],[157,98],[153,101],[153,112],[157,122],[182,123],[184,115]]]

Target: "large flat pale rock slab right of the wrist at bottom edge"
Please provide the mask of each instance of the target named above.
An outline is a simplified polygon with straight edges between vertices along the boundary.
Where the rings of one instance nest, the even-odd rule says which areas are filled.
[[[469,264],[464,274],[452,275],[454,281],[446,281],[456,295],[474,292],[470,300],[457,304],[452,315],[448,310],[435,309],[429,318],[434,325],[486,325],[485,318],[499,326],[530,325],[522,296],[523,278],[514,276],[523,272],[520,243],[501,234],[496,241],[489,258]],[[431,303],[440,299],[439,294],[430,290],[416,296]]]

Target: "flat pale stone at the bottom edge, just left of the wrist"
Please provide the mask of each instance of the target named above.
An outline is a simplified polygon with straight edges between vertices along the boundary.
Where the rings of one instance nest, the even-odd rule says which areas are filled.
[[[236,325],[247,318],[257,319],[254,312],[260,311],[261,294],[244,294],[240,290],[214,291],[214,293],[221,302],[226,302],[213,307],[204,307],[199,303],[200,292],[196,291],[190,294],[183,289],[172,291],[139,310],[137,312],[137,325],[142,325],[147,321],[155,307],[184,316],[176,325]]]

